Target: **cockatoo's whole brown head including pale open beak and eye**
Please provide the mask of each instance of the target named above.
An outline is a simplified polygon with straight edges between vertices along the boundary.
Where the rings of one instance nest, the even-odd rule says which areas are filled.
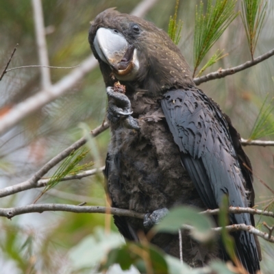
[[[105,10],[92,21],[88,40],[106,86],[115,82],[111,75],[151,96],[193,85],[176,45],[166,32],[142,18]]]

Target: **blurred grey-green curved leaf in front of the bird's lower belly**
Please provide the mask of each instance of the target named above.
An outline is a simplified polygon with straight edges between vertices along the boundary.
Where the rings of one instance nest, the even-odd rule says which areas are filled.
[[[191,225],[193,228],[190,230],[190,235],[200,242],[208,242],[214,236],[210,217],[199,214],[199,210],[188,206],[173,208],[153,229],[155,232],[176,234],[182,225]]]

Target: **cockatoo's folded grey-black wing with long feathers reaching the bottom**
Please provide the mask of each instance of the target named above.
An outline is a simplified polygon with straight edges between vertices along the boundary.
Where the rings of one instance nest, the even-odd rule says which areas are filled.
[[[222,112],[197,88],[170,90],[161,101],[162,109],[181,161],[203,203],[218,208],[223,195],[230,206],[247,207],[245,180]],[[232,223],[251,225],[249,214],[230,214]],[[249,272],[260,269],[252,234],[237,232],[238,257]]]

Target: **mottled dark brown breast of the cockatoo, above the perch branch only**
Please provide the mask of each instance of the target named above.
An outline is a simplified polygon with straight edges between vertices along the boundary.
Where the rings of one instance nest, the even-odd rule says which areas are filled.
[[[140,132],[112,130],[108,189],[114,205],[152,212],[177,204],[203,207],[184,170],[161,109],[139,116]]]

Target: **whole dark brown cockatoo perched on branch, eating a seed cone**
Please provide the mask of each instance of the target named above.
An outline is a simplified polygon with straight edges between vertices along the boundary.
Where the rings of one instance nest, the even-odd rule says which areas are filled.
[[[114,216],[128,240],[149,229],[177,205],[219,208],[254,203],[251,164],[240,136],[219,105],[199,90],[190,68],[169,36],[153,23],[108,9],[92,21],[88,40],[107,94],[111,140],[105,164],[115,208],[147,213],[145,220]],[[117,81],[121,85],[114,85]],[[254,225],[250,214],[230,214],[231,223]],[[248,232],[232,234],[236,254],[249,273],[260,269],[260,246]],[[182,232],[183,258],[190,266],[229,260]],[[179,257],[177,235],[152,240]]]

